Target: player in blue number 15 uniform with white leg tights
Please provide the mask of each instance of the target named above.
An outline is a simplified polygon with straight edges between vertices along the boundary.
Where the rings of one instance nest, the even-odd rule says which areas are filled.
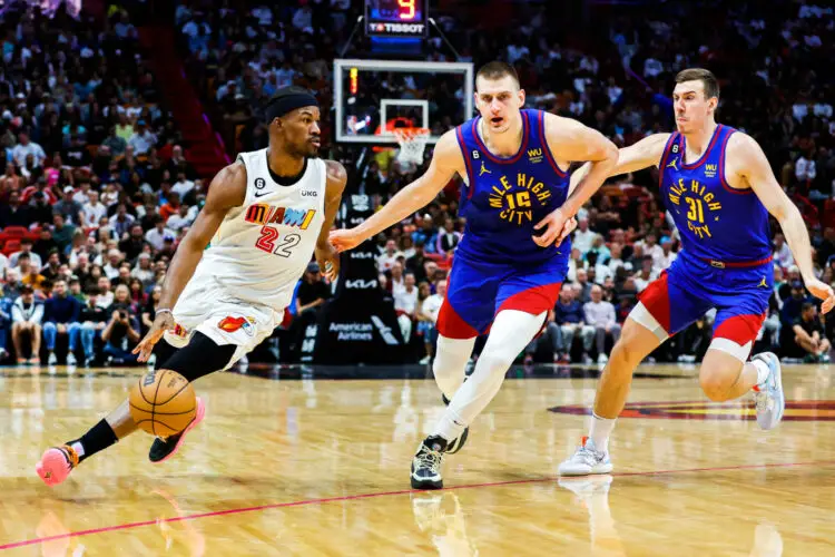
[[[480,116],[444,134],[426,173],[360,226],[331,233],[350,250],[429,204],[458,174],[466,218],[446,299],[438,317],[435,381],[449,405],[412,461],[412,487],[443,486],[444,452],[463,444],[468,426],[499,392],[517,355],[557,303],[570,246],[553,245],[615,168],[617,147],[578,121],[522,109],[512,67],[490,62],[475,77]],[[569,196],[569,164],[590,172]],[[464,369],[475,338],[489,331],[470,379]],[[462,384],[463,383],[463,384]]]

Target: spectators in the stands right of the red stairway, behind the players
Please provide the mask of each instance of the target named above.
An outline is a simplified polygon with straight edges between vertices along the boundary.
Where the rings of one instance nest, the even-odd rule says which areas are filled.
[[[459,60],[478,66],[499,58],[513,63],[529,107],[577,118],[619,146],[671,129],[669,96],[678,70],[713,69],[723,87],[718,118],[764,146],[775,175],[811,224],[816,273],[832,282],[835,118],[829,99],[835,96],[833,79],[824,72],[833,45],[823,38],[833,31],[833,9],[793,0],[767,6],[631,2],[591,9],[583,41],[550,25],[560,18],[557,4],[514,3],[512,18],[502,20],[505,31],[512,31],[502,33],[488,32],[494,22],[472,12],[444,13],[438,20],[461,53]],[[258,107],[276,87],[310,87],[327,106],[333,98],[334,48],[344,43],[355,16],[347,2],[285,2],[272,8],[245,3],[216,13],[200,6],[180,6],[177,25],[189,71],[204,97],[216,104],[216,118],[237,128],[237,148],[266,145]],[[694,23],[698,21],[710,25]],[[362,40],[353,48],[351,56],[367,55]],[[453,61],[438,38],[429,40],[425,58]],[[431,90],[426,88],[428,96]],[[331,114],[322,114],[323,135],[330,137]],[[454,123],[442,115],[430,124],[438,134]],[[333,146],[332,155],[341,153]],[[351,154],[345,159],[352,162]],[[352,187],[380,206],[424,169],[425,164],[399,165],[391,154],[381,153],[354,169]],[[680,248],[656,179],[654,173],[641,172],[609,180],[580,212],[567,284],[549,314],[546,334],[527,349],[528,360],[606,361],[638,294]],[[458,184],[451,184],[429,207],[377,238],[381,287],[392,296],[404,338],[425,345],[425,359],[432,353],[439,292],[444,291],[446,270],[464,231],[458,192]],[[817,315],[779,227],[772,225],[777,280],[757,348],[807,361],[827,359],[832,326]],[[713,319],[709,313],[651,359],[700,359]]]

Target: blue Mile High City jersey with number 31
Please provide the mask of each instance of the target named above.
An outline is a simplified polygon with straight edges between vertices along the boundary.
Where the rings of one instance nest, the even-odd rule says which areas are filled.
[[[661,197],[681,235],[684,252],[703,261],[767,262],[768,212],[752,189],[725,179],[725,149],[736,129],[717,125],[705,154],[686,165],[685,137],[674,133],[661,156]]]

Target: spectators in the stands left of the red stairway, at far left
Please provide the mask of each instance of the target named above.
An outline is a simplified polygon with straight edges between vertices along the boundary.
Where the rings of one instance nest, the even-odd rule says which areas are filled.
[[[124,9],[12,3],[0,37],[0,363],[134,362],[203,182]]]

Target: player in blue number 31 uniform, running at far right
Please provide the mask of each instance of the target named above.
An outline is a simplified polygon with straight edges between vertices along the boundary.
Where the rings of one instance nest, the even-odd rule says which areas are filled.
[[[812,248],[799,211],[772,173],[757,141],[717,124],[719,86],[704,69],[676,77],[672,100],[677,131],[656,134],[620,149],[611,173],[657,165],[659,187],[682,251],[670,268],[640,295],[612,349],[595,399],[591,431],[560,475],[608,473],[609,434],[623,409],[636,367],[669,335],[716,309],[714,339],[699,370],[710,400],[754,391],[757,423],[772,429],[785,409],[780,364],[770,352],[748,361],[768,310],[773,263],[768,213],[779,222],[806,287],[828,312],[835,297],[815,278]],[[580,168],[572,183],[582,177]]]

